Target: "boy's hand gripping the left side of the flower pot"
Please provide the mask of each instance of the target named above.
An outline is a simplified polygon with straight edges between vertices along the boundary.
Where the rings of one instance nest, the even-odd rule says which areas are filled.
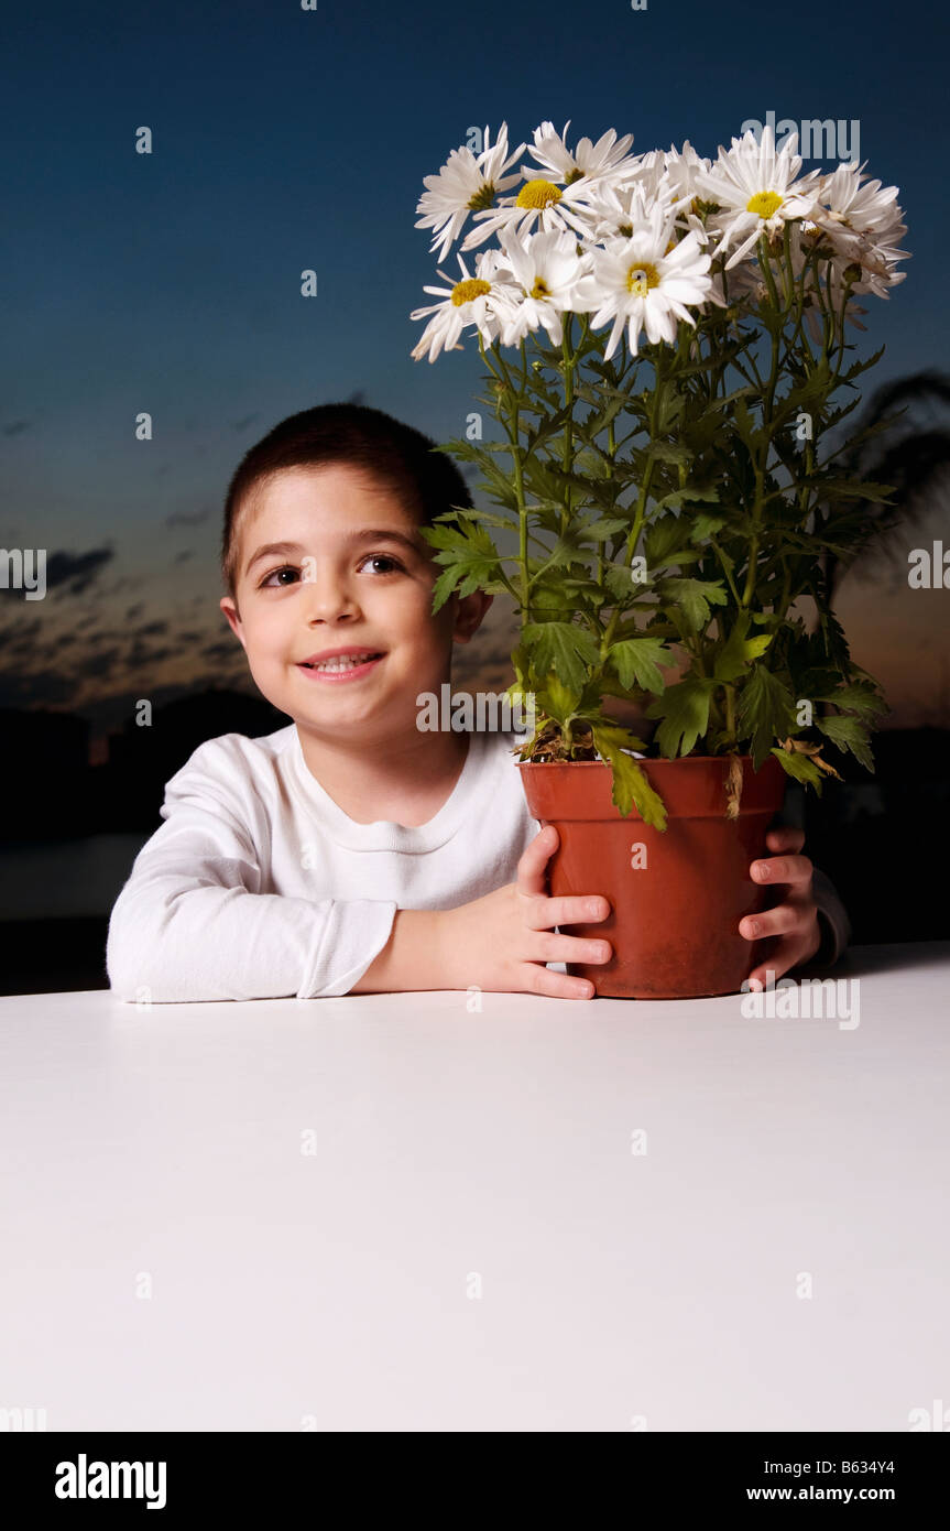
[[[558,833],[546,825],[519,860],[517,882],[439,916],[439,945],[451,978],[447,987],[479,987],[502,994],[546,994],[555,1000],[592,1000],[587,978],[549,972],[548,961],[609,961],[607,940],[558,935],[555,925],[606,920],[610,905],[598,894],[551,899],[545,868],[558,847]]]

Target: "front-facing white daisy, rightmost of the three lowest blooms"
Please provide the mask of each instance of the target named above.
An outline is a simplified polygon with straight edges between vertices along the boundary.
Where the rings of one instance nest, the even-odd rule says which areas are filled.
[[[710,256],[696,233],[673,239],[673,217],[656,204],[635,228],[630,239],[609,240],[604,250],[590,251],[594,271],[578,282],[577,302],[583,311],[597,309],[590,326],[598,329],[613,320],[604,351],[609,361],[624,325],[629,325],[630,351],[636,355],[641,329],[647,340],[672,343],[676,320],[695,325],[685,303],[704,303],[710,292]]]

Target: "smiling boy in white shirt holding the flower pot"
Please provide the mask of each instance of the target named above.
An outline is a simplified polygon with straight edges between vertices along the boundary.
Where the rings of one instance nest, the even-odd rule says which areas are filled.
[[[471,505],[433,442],[381,410],[292,415],[240,462],[225,504],[220,608],[263,695],[292,723],[202,744],[165,788],[109,925],[122,1000],[320,998],[399,989],[590,998],[546,963],[607,961],[606,940],[554,931],[607,900],[551,899],[557,830],[528,813],[508,733],[419,730],[422,692],[451,680],[493,597],[457,592],[421,525]],[[386,565],[379,571],[379,565]],[[832,963],[848,935],[800,830],[753,876],[788,885],[757,916],[776,978]],[[759,874],[756,868],[765,868]],[[818,897],[820,905],[815,902]],[[821,923],[820,923],[821,922]],[[750,983],[762,987],[765,965]]]

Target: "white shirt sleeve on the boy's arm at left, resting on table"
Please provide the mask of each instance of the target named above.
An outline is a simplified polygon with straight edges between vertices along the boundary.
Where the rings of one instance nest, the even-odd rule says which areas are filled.
[[[113,905],[112,992],[136,1003],[347,994],[386,946],[396,902],[262,893],[252,814],[229,787],[216,743],[167,784],[165,822]]]

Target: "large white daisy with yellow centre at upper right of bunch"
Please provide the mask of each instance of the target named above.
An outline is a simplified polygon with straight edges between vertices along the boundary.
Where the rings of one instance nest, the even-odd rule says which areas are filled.
[[[750,129],[742,138],[733,138],[731,149],[721,149],[713,168],[698,176],[704,201],[721,208],[708,224],[722,234],[716,253],[724,253],[736,239],[742,240],[727,260],[727,271],[742,260],[760,233],[777,233],[788,219],[811,216],[818,171],[811,170],[802,181],[794,179],[802,168],[797,144],[799,135],[789,133],[776,155],[776,138],[766,122],[760,142]]]

